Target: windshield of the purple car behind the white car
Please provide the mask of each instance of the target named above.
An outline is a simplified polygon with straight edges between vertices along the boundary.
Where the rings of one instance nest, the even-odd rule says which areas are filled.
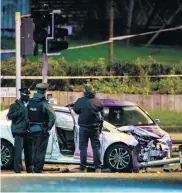
[[[115,126],[154,124],[148,114],[138,106],[104,107],[104,119]]]

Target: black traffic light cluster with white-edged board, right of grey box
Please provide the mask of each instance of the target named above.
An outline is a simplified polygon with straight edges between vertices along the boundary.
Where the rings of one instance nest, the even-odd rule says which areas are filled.
[[[68,48],[65,37],[68,30],[63,27],[68,22],[60,10],[50,11],[47,6],[32,8],[34,22],[33,39],[36,44],[43,45],[43,52],[47,55],[59,55],[61,50]]]

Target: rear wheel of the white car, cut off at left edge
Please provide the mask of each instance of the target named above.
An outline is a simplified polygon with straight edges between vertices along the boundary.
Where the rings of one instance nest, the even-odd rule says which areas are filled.
[[[1,140],[1,169],[9,169],[13,165],[13,146]]]

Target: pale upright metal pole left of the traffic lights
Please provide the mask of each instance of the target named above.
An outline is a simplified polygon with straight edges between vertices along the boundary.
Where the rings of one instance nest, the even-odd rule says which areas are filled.
[[[16,23],[16,98],[20,98],[21,88],[21,16],[20,12],[15,13]]]

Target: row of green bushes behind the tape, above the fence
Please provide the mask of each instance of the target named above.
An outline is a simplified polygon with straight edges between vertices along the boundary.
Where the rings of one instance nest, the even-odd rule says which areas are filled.
[[[107,64],[104,58],[97,61],[77,60],[68,64],[64,57],[48,60],[48,76],[125,76],[112,79],[60,79],[49,80],[51,90],[82,91],[86,83],[91,83],[103,93],[128,94],[181,94],[182,80],[179,77],[150,78],[149,75],[181,74],[181,66],[163,66],[149,56],[146,60],[137,58],[133,63],[119,61]],[[2,62],[3,75],[15,75],[15,58]],[[22,75],[41,76],[42,59],[35,62],[22,59]],[[138,76],[138,77],[130,77]],[[22,86],[35,89],[41,80],[22,80]],[[15,80],[2,80],[2,86],[15,86]]]

